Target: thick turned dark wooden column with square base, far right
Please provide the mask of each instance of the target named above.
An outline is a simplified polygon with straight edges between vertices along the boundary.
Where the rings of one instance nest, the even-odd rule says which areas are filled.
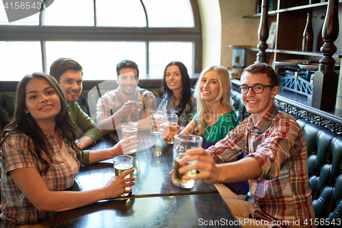
[[[334,41],[339,36],[339,0],[329,0],[326,19],[322,29],[324,45],[319,60],[319,71],[314,75],[312,107],[319,110],[334,110],[339,77],[334,71],[335,60],[332,55],[337,51]]]

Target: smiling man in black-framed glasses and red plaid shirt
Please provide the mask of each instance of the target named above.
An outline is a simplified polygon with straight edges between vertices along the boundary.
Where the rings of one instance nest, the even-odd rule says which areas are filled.
[[[179,162],[180,173],[210,183],[249,180],[254,204],[225,199],[242,227],[313,227],[306,140],[289,114],[278,112],[274,97],[278,76],[268,64],[252,64],[241,75],[241,99],[251,115],[209,149],[190,149]],[[246,151],[247,155],[234,160]],[[224,163],[224,164],[217,164]]]

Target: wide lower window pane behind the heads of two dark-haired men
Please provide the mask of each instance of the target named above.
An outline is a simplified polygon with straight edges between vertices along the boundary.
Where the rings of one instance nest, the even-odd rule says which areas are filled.
[[[83,80],[116,79],[116,64],[132,60],[139,66],[140,75],[146,74],[145,42],[63,42],[49,41],[47,73],[58,58],[72,58],[83,67]]]

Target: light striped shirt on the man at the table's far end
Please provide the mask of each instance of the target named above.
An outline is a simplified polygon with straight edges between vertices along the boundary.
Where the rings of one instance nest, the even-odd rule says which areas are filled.
[[[150,111],[155,110],[155,95],[153,92],[137,87],[131,100],[142,101],[143,108],[140,111],[139,119],[150,116]],[[120,110],[125,102],[127,101],[124,101],[120,96],[119,88],[105,92],[96,104],[96,122],[99,123],[103,119],[110,117]],[[127,116],[123,116],[120,123],[127,122]]]

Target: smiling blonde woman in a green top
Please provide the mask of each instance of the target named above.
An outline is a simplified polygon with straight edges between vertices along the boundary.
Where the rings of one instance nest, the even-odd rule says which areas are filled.
[[[202,136],[202,147],[207,149],[239,125],[230,102],[231,82],[228,70],[224,66],[205,68],[196,83],[194,96],[197,101],[197,113],[181,134]],[[242,156],[237,160],[241,158]],[[215,186],[223,198],[245,199],[249,190],[247,181],[218,183]]]

